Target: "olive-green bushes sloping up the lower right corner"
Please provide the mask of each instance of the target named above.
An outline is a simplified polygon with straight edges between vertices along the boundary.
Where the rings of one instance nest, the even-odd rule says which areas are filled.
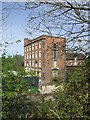
[[[73,70],[66,81],[59,83],[53,99],[43,98],[39,104],[39,116],[58,120],[89,120],[88,96],[90,58]]]

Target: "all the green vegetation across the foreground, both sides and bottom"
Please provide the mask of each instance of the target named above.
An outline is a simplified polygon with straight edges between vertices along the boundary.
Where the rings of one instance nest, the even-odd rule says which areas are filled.
[[[53,99],[46,100],[44,96],[33,101],[28,95],[30,86],[21,81],[20,77],[25,75],[24,69],[18,66],[18,74],[15,76],[8,70],[15,70],[15,61],[11,64],[8,58],[2,58],[2,120],[23,119],[52,119],[58,120],[89,120],[88,95],[90,79],[90,58],[69,74],[68,79],[63,81],[63,89],[55,90]],[[15,59],[14,59],[15,60]],[[59,83],[60,84],[60,83]]]

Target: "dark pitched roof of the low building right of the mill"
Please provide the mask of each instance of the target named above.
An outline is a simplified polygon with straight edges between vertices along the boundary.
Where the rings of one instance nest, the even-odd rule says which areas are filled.
[[[75,57],[78,60],[85,60],[85,55],[82,53],[66,53],[66,60],[74,60]]]

